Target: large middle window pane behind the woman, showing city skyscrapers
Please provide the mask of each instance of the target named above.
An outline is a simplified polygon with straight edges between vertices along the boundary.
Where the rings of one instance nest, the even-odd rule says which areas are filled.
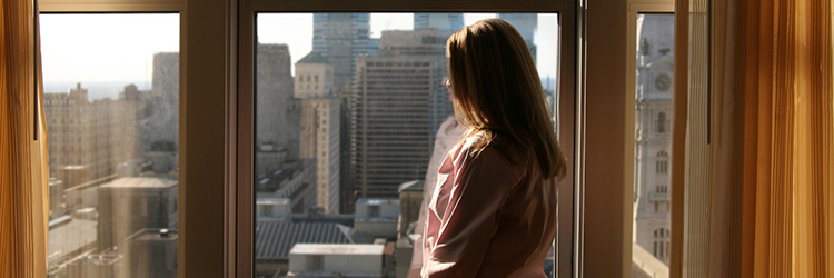
[[[495,17],[558,107],[554,13],[258,14],[257,277],[408,275],[424,188],[463,132],[446,40]]]

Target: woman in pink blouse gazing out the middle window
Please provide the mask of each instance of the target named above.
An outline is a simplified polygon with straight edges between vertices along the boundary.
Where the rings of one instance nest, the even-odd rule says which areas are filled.
[[[509,23],[447,42],[455,115],[467,128],[428,205],[423,277],[545,277],[565,173],[536,66]]]

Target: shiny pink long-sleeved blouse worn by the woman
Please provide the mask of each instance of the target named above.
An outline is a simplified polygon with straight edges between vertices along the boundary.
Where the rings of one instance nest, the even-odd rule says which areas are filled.
[[[507,148],[508,160],[490,145],[473,159],[477,140],[469,137],[440,165],[425,219],[423,277],[546,277],[557,179],[544,179],[533,149]]]

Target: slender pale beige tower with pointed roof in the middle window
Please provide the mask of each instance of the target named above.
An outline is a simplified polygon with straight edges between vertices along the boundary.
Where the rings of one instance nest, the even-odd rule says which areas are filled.
[[[300,158],[316,160],[316,206],[339,214],[340,105],[334,67],[316,52],[296,62],[296,98],[301,99]]]

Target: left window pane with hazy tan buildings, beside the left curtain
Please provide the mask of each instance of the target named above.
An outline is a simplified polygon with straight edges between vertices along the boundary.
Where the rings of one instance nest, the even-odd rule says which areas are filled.
[[[176,277],[179,14],[41,14],[49,277]]]

